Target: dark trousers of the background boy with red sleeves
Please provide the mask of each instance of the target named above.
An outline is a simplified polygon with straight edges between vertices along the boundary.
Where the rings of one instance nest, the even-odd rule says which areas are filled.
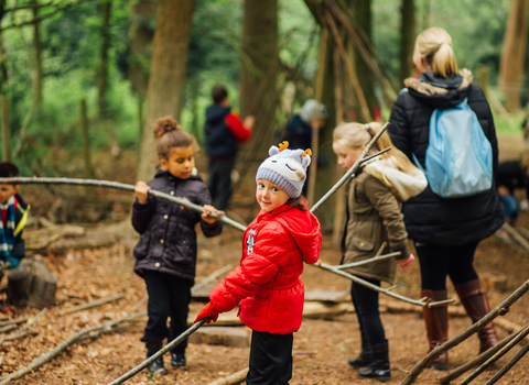
[[[209,161],[207,187],[214,206],[219,210],[226,210],[231,198],[233,169],[234,161]]]

